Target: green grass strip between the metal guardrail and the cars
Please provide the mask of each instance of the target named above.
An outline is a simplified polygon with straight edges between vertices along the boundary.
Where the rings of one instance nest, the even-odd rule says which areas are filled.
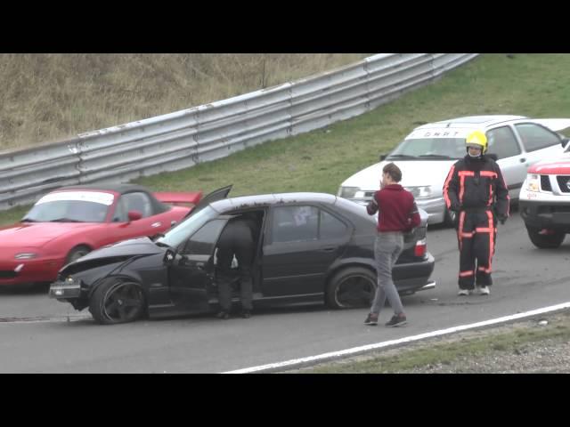
[[[155,190],[204,192],[233,184],[232,195],[281,191],[336,193],[352,173],[378,161],[426,122],[479,114],[570,117],[570,54],[484,54],[367,114],[326,129],[265,142],[230,157],[136,180]],[[26,208],[0,215],[20,218]]]

